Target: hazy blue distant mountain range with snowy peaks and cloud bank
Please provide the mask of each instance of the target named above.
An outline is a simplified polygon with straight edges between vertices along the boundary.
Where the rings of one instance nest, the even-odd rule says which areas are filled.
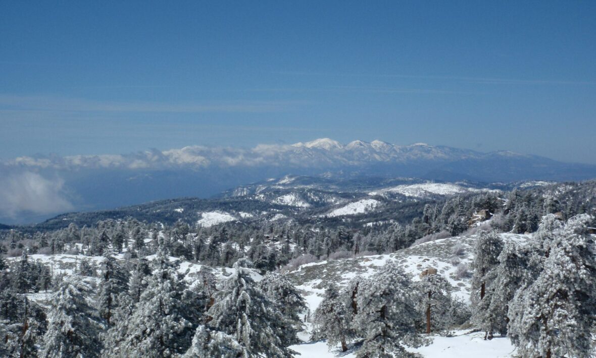
[[[596,178],[596,165],[507,151],[483,153],[424,143],[398,146],[380,140],[343,145],[324,138],[252,149],[191,146],[129,155],[27,156],[2,162],[0,174],[4,178],[0,222],[30,222],[65,211],[210,197],[287,174],[486,183],[566,181]],[[32,205],[32,200],[39,205]]]

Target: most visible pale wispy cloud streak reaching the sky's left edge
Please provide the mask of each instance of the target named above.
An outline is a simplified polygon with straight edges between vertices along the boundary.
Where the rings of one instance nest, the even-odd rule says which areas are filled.
[[[303,104],[300,101],[225,101],[213,103],[114,102],[57,96],[0,95],[3,111],[201,113],[283,112]]]

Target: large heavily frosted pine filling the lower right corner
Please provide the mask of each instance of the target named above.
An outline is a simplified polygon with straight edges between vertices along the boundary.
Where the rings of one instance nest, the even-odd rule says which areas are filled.
[[[591,357],[596,252],[586,214],[555,233],[539,277],[510,308],[510,338],[524,357]]]

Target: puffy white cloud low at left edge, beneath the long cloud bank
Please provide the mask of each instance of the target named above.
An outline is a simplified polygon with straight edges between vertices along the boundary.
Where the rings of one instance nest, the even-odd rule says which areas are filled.
[[[50,214],[73,209],[63,191],[64,181],[31,171],[0,175],[0,216],[15,218],[20,212]]]

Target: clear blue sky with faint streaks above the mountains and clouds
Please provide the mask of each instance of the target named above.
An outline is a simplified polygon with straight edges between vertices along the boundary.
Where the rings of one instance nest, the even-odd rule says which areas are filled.
[[[1,8],[1,159],[331,137],[596,164],[595,1]]]

